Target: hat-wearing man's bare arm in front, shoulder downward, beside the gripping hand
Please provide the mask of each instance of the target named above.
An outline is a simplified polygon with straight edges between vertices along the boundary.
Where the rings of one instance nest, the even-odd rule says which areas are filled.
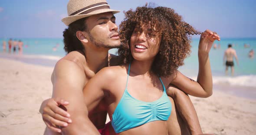
[[[85,73],[75,62],[59,61],[54,69],[53,98],[65,99],[69,102],[64,108],[70,114],[72,123],[62,127],[63,135],[95,135],[98,132],[95,126],[87,119],[88,112],[83,98]],[[88,127],[84,130],[83,127]]]

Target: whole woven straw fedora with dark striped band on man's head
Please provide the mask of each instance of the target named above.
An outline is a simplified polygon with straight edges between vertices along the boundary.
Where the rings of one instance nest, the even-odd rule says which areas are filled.
[[[106,12],[118,13],[118,10],[111,10],[106,0],[69,0],[67,6],[68,16],[62,22],[69,26],[76,20]]]

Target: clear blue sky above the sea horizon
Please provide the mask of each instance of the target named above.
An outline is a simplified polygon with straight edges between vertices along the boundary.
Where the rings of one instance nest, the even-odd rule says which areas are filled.
[[[0,38],[62,38],[69,0],[0,0]],[[224,38],[256,38],[254,0],[107,0],[127,11],[153,2],[173,8],[197,30],[210,29]],[[117,24],[124,13],[115,14]]]

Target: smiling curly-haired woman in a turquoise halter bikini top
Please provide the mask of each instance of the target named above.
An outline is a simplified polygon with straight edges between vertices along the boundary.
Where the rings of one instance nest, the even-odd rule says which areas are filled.
[[[208,55],[220,37],[210,30],[197,32],[167,7],[138,7],[125,16],[120,25],[123,45],[118,50],[123,64],[103,68],[85,85],[87,113],[104,100],[119,135],[168,134],[171,91],[165,86],[173,84],[192,96],[210,96]],[[190,53],[189,34],[202,34],[197,82],[177,71]]]

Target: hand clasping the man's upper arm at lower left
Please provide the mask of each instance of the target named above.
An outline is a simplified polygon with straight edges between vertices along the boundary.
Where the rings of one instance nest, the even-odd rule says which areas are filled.
[[[42,114],[43,121],[53,132],[61,132],[59,126],[66,127],[68,123],[72,122],[69,113],[60,108],[60,106],[66,105],[69,105],[69,102],[50,98],[44,100],[40,106],[39,112]]]

